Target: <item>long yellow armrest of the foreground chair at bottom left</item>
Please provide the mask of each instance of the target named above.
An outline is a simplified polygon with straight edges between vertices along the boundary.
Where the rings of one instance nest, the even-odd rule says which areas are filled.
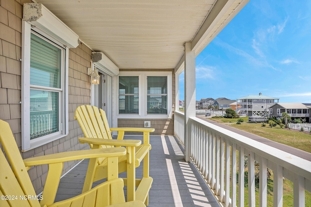
[[[23,161],[25,166],[33,166],[60,163],[77,159],[119,157],[122,155],[126,155],[126,149],[124,147],[115,147],[106,149],[88,149],[81,151],[61,152],[57,154],[28,158],[24,159]]]

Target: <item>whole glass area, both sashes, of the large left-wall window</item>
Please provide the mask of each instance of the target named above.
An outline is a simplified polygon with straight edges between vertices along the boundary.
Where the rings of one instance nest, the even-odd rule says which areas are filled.
[[[31,33],[30,139],[59,131],[62,50]]]

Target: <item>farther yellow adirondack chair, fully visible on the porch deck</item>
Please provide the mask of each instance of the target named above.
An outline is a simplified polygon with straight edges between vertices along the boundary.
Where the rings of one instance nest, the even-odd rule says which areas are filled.
[[[105,111],[95,106],[82,105],[75,111],[77,119],[85,137],[79,138],[80,143],[89,143],[92,149],[109,148],[114,146],[125,146],[127,156],[119,158],[119,173],[127,172],[124,184],[127,186],[127,201],[140,200],[148,206],[149,190],[152,184],[152,177],[149,176],[149,143],[150,132],[154,128],[109,128]],[[112,139],[111,131],[118,131],[117,140]],[[123,140],[125,131],[143,132],[143,143],[133,144],[133,140]],[[96,138],[96,139],[94,139]],[[143,160],[143,176],[136,179],[135,168]],[[88,169],[83,191],[88,191],[92,183],[107,177],[106,160],[98,159],[94,167]],[[90,166],[90,165],[89,165]],[[137,189],[136,189],[137,187]]]

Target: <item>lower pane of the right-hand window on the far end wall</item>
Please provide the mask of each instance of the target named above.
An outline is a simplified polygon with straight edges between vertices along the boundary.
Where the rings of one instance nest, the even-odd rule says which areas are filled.
[[[167,114],[167,96],[147,96],[147,113]]]

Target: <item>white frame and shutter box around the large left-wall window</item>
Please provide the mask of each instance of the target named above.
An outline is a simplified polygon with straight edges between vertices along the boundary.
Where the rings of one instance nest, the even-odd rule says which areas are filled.
[[[21,150],[22,152],[50,143],[69,134],[68,71],[69,47],[79,45],[78,35],[41,4],[42,16],[35,21],[22,21],[22,73],[21,73]],[[64,48],[62,64],[62,96],[59,100],[59,132],[30,140],[30,42],[31,31]],[[43,38],[43,39],[44,39]]]

